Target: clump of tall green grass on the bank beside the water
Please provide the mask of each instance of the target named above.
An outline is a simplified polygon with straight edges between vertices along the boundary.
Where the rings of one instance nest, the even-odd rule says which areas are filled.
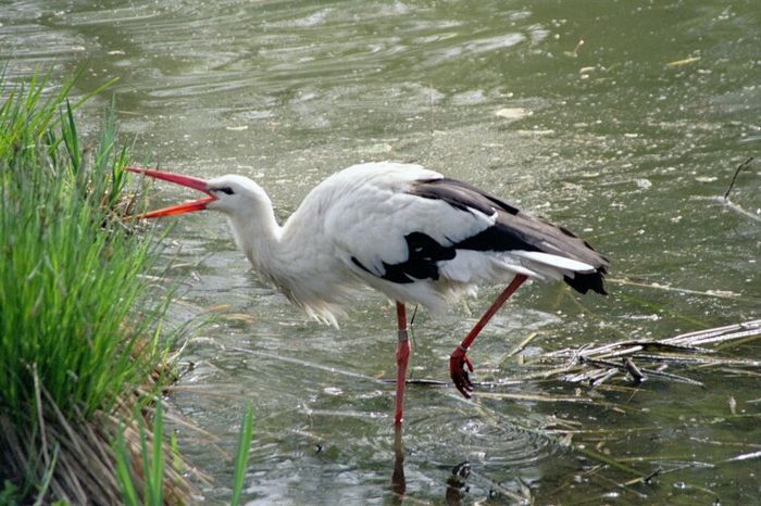
[[[149,300],[139,274],[152,262],[150,241],[120,218],[127,151],[116,144],[112,112],[83,147],[74,111],[87,97],[70,103],[74,83],[51,91],[46,77],[12,86],[0,75],[5,502],[120,503],[113,442],[120,423],[139,438],[136,406],[160,383],[155,329],[167,301]],[[182,502],[187,491],[180,484],[163,497]]]

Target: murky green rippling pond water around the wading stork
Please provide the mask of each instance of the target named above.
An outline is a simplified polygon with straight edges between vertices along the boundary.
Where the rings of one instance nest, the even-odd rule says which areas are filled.
[[[339,168],[416,162],[562,223],[612,261],[608,298],[520,290],[471,352],[482,395],[410,385],[397,445],[394,385],[379,380],[395,372],[384,298],[363,292],[339,330],[322,326],[250,271],[221,216],[166,219],[173,322],[215,316],[169,399],[198,428],[177,432],[210,503],[229,499],[247,403],[250,504],[758,501],[758,368],[669,368],[704,387],[526,379],[545,352],[759,318],[759,162],[738,174],[734,206],[721,199],[760,154],[757,0],[28,0],[5,2],[0,23],[11,78],[84,65],[85,92],[118,77],[122,138],[139,161],[255,178],[282,219]],[[157,205],[187,195],[155,190]],[[448,379],[497,290],[442,317],[417,312],[412,378]],[[761,356],[753,340],[713,349]]]

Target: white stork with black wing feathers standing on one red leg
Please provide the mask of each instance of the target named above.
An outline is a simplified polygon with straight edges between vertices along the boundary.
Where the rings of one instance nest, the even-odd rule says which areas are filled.
[[[467,349],[526,279],[564,280],[581,293],[606,294],[608,260],[586,241],[420,165],[366,163],[340,170],[317,185],[283,226],[267,194],[247,177],[207,181],[127,169],[207,193],[141,217],[222,212],[262,278],[322,321],[336,325],[341,305],[352,301],[362,284],[396,301],[397,426],[403,416],[410,357],[406,304],[440,311],[479,283],[509,282],[451,354],[451,378],[470,397],[473,363]]]

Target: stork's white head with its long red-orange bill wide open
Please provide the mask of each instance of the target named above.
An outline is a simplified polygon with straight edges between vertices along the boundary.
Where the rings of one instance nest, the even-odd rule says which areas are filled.
[[[141,214],[141,218],[155,218],[159,216],[173,216],[177,214],[192,213],[195,211],[220,211],[228,216],[255,212],[258,204],[272,205],[264,190],[259,185],[245,176],[227,175],[203,180],[180,174],[164,173],[149,168],[125,167],[127,170],[145,176],[163,179],[184,187],[202,191],[208,197],[185,202],[162,210],[150,211]]]

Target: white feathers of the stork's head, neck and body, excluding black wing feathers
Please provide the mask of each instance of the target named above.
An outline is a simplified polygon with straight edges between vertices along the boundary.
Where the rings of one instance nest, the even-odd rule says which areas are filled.
[[[403,284],[385,280],[385,264],[409,258],[406,236],[422,232],[451,246],[495,224],[496,210],[488,216],[410,193],[415,181],[432,179],[444,176],[411,164],[354,165],[317,185],[280,227],[270,199],[255,182],[222,176],[211,179],[209,187],[234,188],[240,203],[227,205],[221,198],[208,208],[227,214],[236,242],[264,279],[310,315],[334,325],[352,289],[362,283],[391,300],[440,312],[476,283],[507,282],[515,274],[562,279],[595,270],[583,262],[540,252],[458,251],[454,258],[438,263],[438,280]]]

